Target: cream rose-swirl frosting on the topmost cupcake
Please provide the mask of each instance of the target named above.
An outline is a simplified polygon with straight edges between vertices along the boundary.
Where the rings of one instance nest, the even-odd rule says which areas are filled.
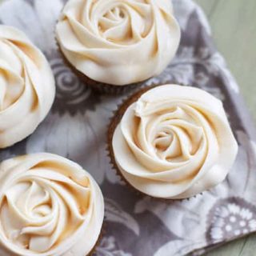
[[[160,74],[181,36],[170,0],[70,0],[56,33],[77,70],[116,86]]]

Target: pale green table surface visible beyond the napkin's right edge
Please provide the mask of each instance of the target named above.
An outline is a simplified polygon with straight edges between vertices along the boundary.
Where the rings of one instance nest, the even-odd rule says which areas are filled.
[[[195,0],[205,10],[218,50],[237,79],[256,121],[256,0]],[[255,122],[256,123],[256,122]],[[256,234],[207,256],[255,256]]]

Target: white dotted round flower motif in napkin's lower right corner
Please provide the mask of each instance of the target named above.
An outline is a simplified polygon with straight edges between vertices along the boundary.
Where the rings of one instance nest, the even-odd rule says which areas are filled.
[[[227,198],[210,210],[206,238],[221,242],[256,230],[256,207],[242,198]]]

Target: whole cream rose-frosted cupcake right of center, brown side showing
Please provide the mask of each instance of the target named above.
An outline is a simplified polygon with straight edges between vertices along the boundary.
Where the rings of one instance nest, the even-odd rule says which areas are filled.
[[[210,190],[226,178],[238,151],[222,102],[178,85],[129,98],[110,124],[109,147],[130,186],[164,199]]]

